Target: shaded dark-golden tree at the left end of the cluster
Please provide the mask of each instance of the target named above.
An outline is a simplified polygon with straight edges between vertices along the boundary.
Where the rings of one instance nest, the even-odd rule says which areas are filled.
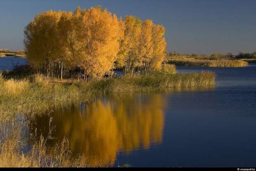
[[[61,12],[47,11],[35,16],[24,30],[24,46],[29,62],[50,76],[50,62],[57,58],[57,23]]]

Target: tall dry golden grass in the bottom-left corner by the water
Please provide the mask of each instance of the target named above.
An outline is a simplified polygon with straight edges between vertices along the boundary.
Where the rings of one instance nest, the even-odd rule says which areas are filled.
[[[18,123],[18,124],[17,124]],[[87,164],[87,159],[83,155],[71,157],[69,143],[63,139],[52,149],[47,149],[47,140],[40,136],[40,139],[33,139],[33,135],[24,137],[21,132],[25,125],[19,122],[12,122],[9,126],[0,129],[0,167],[100,167]],[[31,145],[30,150],[26,150],[29,141],[36,141]],[[24,150],[25,149],[25,150]],[[50,153],[47,153],[50,150]]]

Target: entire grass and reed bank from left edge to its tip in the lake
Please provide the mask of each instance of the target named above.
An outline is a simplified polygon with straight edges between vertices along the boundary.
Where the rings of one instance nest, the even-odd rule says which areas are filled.
[[[79,103],[97,93],[127,93],[191,88],[213,85],[215,74],[201,72],[168,74],[155,72],[149,76],[105,78],[101,81],[47,80],[42,75],[24,79],[4,79],[0,76],[0,123],[17,113],[33,115],[54,106]]]

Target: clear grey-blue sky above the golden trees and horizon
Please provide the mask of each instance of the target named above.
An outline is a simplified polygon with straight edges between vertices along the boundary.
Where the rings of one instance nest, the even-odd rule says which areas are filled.
[[[167,51],[256,51],[256,0],[0,0],[0,49],[23,49],[23,30],[47,10],[102,5],[118,17],[135,15],[166,28]]]

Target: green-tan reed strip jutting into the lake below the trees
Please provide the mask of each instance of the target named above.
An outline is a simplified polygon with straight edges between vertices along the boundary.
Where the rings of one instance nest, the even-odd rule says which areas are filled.
[[[212,72],[190,74],[154,73],[149,76],[126,76],[103,79],[90,83],[88,90],[97,92],[146,92],[169,88],[192,88],[214,85],[216,75]]]

